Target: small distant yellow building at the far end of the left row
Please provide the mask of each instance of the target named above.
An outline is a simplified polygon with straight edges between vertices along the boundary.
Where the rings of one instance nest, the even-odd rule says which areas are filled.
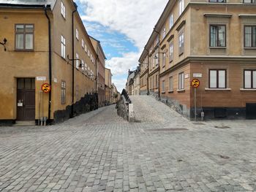
[[[111,100],[112,74],[111,70],[105,68],[105,105],[112,104]]]

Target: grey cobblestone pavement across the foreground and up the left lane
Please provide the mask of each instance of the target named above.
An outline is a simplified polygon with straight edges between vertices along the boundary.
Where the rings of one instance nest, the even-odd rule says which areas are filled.
[[[167,112],[141,105],[145,117]],[[56,126],[0,127],[0,191],[256,191],[255,125],[175,112],[127,123],[112,105]]]

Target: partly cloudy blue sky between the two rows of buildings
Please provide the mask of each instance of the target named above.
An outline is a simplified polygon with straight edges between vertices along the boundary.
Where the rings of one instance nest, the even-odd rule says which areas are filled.
[[[75,0],[86,31],[101,42],[119,92],[168,0]]]

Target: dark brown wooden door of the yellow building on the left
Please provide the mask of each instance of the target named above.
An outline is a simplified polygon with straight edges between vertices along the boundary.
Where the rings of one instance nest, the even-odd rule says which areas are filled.
[[[17,79],[17,120],[35,119],[34,78]]]

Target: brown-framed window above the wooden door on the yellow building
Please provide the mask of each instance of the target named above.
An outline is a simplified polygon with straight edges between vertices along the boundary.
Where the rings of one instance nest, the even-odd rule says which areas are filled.
[[[16,50],[34,49],[34,25],[17,24],[15,25]]]

